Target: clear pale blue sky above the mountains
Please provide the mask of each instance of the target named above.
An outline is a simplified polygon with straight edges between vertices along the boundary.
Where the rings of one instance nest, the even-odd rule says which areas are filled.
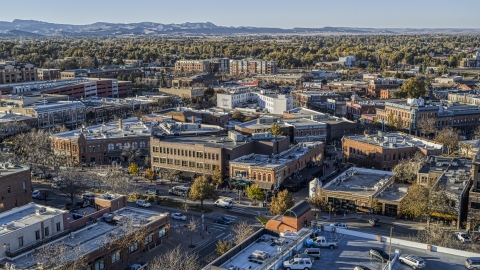
[[[10,0],[0,21],[219,26],[480,28],[479,0]]]

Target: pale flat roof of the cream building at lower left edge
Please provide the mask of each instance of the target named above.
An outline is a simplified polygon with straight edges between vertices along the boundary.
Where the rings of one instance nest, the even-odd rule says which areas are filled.
[[[9,234],[18,229],[63,215],[67,211],[29,203],[0,214],[0,235]]]

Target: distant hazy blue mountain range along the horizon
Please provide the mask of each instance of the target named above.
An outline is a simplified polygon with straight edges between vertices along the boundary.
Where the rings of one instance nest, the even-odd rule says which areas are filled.
[[[369,35],[369,34],[480,34],[480,28],[265,28],[226,27],[210,22],[162,24],[153,22],[86,25],[56,24],[34,20],[0,21],[1,37],[41,36],[159,36],[159,35]]]

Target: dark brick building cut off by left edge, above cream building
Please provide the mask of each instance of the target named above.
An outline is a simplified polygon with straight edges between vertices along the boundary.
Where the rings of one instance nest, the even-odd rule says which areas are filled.
[[[32,201],[30,168],[11,163],[0,164],[0,212]]]

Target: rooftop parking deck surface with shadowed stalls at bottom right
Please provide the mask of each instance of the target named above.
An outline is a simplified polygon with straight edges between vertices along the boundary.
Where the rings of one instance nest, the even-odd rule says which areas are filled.
[[[338,238],[340,240],[339,246],[336,249],[322,249],[322,259],[316,260],[313,269],[353,269],[356,265],[362,265],[370,268],[371,270],[383,270],[385,263],[379,260],[372,259],[368,256],[370,248],[381,248],[385,252],[389,253],[388,243],[381,243],[377,241],[366,240],[364,238],[345,235],[343,238],[339,234],[324,232],[324,235],[328,239]],[[392,254],[395,249],[400,250],[400,254],[414,254],[423,258],[426,261],[427,266],[425,269],[465,269],[464,262],[465,257],[459,257],[444,253],[428,252],[426,250],[420,250],[416,248],[408,248],[405,246],[392,245]],[[397,261],[394,270],[410,270],[410,266],[401,264]]]

